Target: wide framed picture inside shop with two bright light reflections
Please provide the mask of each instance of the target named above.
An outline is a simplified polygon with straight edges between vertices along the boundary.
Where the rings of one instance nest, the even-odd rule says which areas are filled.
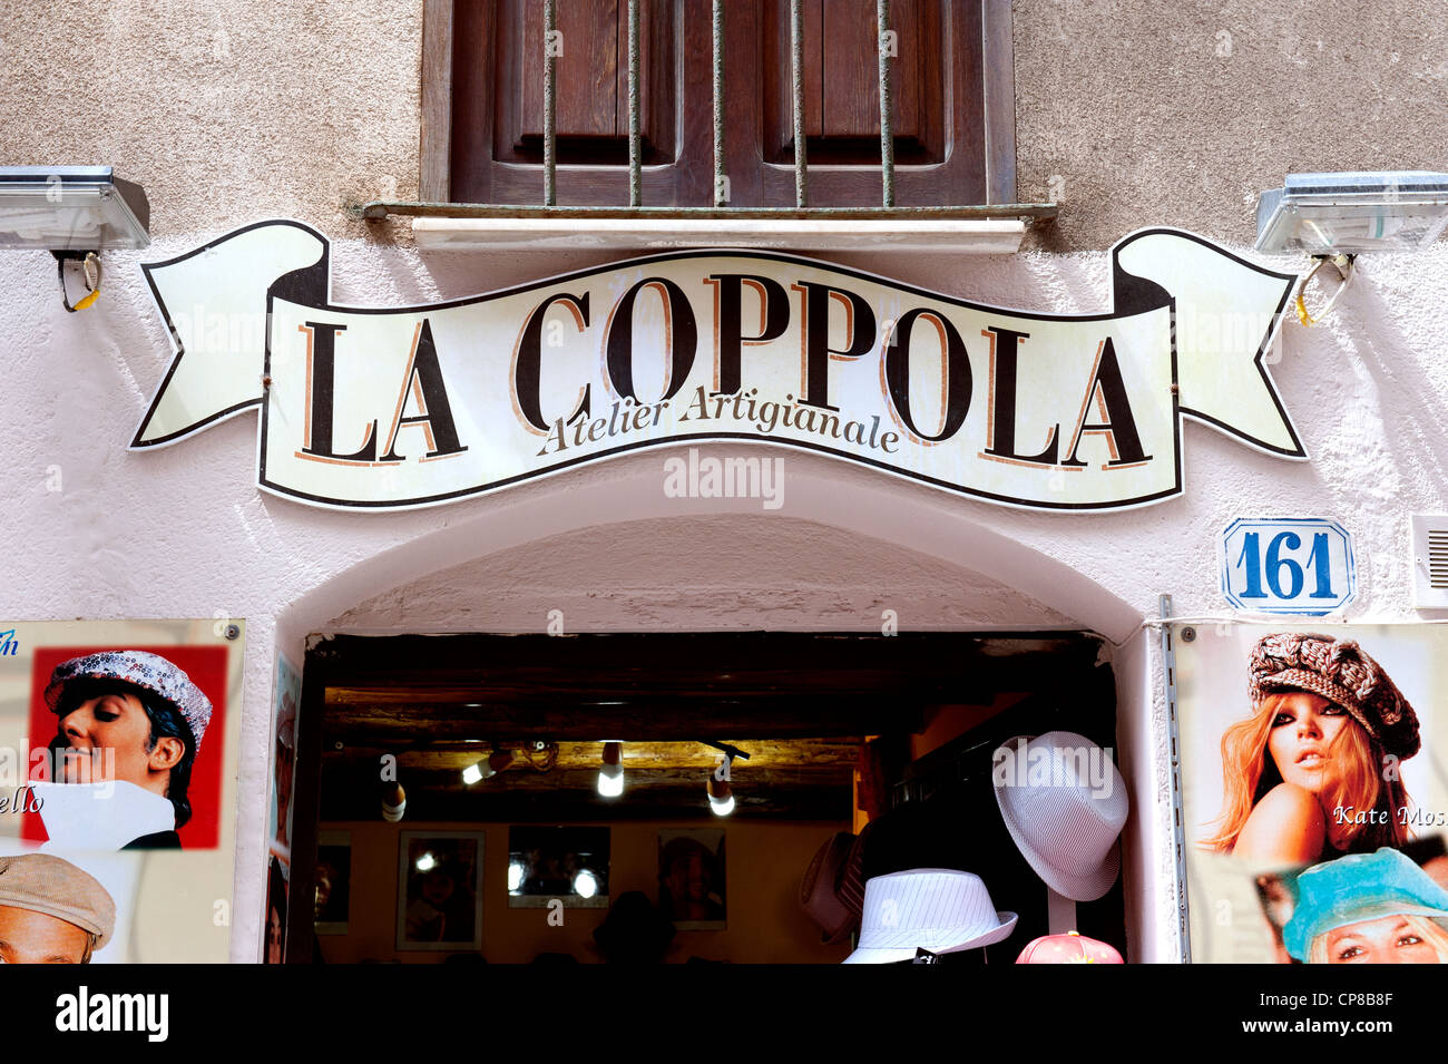
[[[608,828],[508,828],[508,908],[608,908]]]

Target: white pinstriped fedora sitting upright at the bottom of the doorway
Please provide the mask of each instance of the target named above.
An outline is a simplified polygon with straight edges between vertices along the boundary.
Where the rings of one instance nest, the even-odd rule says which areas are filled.
[[[960,953],[999,942],[1015,929],[1014,912],[996,912],[979,876],[915,869],[864,883],[860,945],[846,964],[914,960],[918,948]]]

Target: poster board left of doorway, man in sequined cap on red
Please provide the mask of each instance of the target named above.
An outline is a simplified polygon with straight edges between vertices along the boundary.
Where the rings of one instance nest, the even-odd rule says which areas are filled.
[[[0,630],[0,861],[33,880],[30,908],[0,900],[0,929],[39,935],[26,957],[55,963],[229,960],[243,625]],[[46,921],[87,882],[110,899],[113,926],[91,928],[77,953],[75,934]],[[0,935],[0,950],[10,941]]]

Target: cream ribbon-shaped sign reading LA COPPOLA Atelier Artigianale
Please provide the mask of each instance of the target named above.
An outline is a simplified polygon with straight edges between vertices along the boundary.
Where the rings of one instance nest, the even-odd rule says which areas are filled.
[[[132,447],[259,407],[258,484],[324,507],[434,505],[685,440],[1043,510],[1179,495],[1184,418],[1306,457],[1263,363],[1293,278],[1169,229],[1118,243],[1114,310],[1079,316],[750,250],[353,307],[295,221],[143,269],[177,353]]]

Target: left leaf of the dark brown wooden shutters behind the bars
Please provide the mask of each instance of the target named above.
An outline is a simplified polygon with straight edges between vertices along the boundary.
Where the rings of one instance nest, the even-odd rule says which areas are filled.
[[[447,0],[429,0],[429,6],[439,3]],[[649,166],[644,203],[686,206],[708,197],[708,123],[679,120],[685,106],[708,114],[708,78],[699,87],[675,75],[681,61],[691,67],[702,61],[708,71],[708,3],[678,0],[640,3],[640,133]],[[627,206],[627,0],[559,0],[556,10],[562,46],[555,68],[557,201]],[[452,0],[450,35],[452,116],[442,198],[540,204],[542,1]],[[701,36],[704,54],[695,55]]]

